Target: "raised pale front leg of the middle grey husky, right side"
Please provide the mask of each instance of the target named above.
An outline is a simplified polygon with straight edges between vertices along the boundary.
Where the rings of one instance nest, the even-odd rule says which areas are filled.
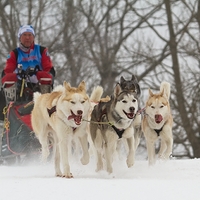
[[[134,138],[127,138],[127,144],[128,144],[128,156],[127,156],[127,166],[132,167],[134,165],[135,161],[135,145],[134,145]]]

